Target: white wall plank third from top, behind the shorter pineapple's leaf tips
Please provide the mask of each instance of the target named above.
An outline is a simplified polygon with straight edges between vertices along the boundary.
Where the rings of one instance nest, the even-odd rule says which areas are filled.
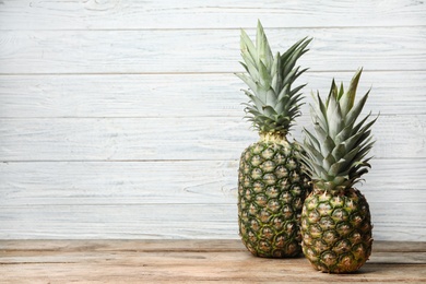
[[[358,94],[371,88],[365,109],[381,115],[425,114],[426,71],[364,71]],[[326,96],[331,79],[348,84],[353,72],[307,72],[299,81]],[[245,85],[229,73],[0,76],[0,116],[242,117]],[[403,94],[403,95],[402,95]],[[398,107],[395,107],[398,106]],[[308,113],[308,104],[303,107]]]

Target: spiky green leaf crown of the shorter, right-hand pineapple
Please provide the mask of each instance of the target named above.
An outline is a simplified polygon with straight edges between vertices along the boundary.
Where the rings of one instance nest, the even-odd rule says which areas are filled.
[[[307,173],[318,189],[342,191],[352,188],[368,173],[370,165],[366,155],[372,147],[370,127],[377,117],[367,122],[371,113],[357,122],[368,98],[369,91],[355,104],[359,69],[345,92],[343,83],[338,88],[334,80],[326,104],[317,92],[316,106],[310,106],[315,133],[304,130],[306,138],[301,145]]]

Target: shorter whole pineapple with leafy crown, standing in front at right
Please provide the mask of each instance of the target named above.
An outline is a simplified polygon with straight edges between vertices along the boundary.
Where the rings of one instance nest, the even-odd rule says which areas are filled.
[[[374,141],[370,114],[357,121],[369,91],[355,104],[362,69],[344,91],[334,83],[326,104],[317,94],[311,106],[315,131],[305,129],[303,149],[313,184],[301,213],[303,251],[322,272],[358,270],[371,253],[371,216],[365,197],[354,188],[368,171]]]

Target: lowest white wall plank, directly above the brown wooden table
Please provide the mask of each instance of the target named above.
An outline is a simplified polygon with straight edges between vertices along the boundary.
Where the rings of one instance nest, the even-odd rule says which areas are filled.
[[[422,217],[424,202],[409,206],[370,202],[370,208],[376,240],[425,240],[426,222]],[[389,208],[397,208],[399,211]],[[381,213],[381,216],[377,213]],[[234,204],[141,202],[2,205],[0,220],[0,239],[238,238],[236,201]]]

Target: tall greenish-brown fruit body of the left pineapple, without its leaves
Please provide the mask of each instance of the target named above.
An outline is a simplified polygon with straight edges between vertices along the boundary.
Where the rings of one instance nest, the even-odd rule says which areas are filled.
[[[300,214],[310,189],[301,170],[300,147],[260,140],[241,154],[238,170],[238,225],[256,257],[289,258],[301,253]]]

